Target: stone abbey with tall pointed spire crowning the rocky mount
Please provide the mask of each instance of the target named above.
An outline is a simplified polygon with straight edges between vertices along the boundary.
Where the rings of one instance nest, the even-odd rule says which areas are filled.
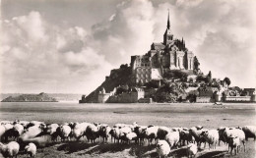
[[[152,79],[162,79],[163,73],[169,70],[193,72],[194,54],[185,46],[185,41],[173,37],[170,29],[169,15],[163,42],[153,43],[145,55],[131,57],[133,81],[145,83]]]

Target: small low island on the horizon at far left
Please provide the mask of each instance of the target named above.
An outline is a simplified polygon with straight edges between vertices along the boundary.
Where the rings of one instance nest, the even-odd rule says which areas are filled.
[[[21,94],[19,96],[9,96],[1,102],[58,102],[54,97],[41,92],[39,94]]]

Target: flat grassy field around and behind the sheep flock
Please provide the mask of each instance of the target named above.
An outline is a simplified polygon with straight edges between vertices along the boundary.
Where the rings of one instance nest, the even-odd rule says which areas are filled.
[[[1,103],[1,120],[37,120],[46,123],[90,122],[166,127],[256,125],[255,104],[77,104],[77,103]],[[197,157],[255,157],[255,141],[247,141],[246,152],[236,156],[226,153],[222,144],[217,149],[202,149]],[[185,157],[184,147],[172,149],[169,157]],[[155,146],[136,144],[88,144],[61,142],[47,144],[37,151],[37,157],[157,157]],[[21,155],[21,157],[26,157]]]

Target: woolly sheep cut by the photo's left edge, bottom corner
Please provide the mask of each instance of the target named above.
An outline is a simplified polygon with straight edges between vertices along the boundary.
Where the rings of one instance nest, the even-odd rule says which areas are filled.
[[[0,151],[4,157],[17,157],[17,154],[20,150],[20,145],[16,141],[10,141],[7,144],[0,142]]]

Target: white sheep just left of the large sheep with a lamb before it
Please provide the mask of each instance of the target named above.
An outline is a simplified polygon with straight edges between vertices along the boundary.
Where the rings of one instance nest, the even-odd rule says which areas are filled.
[[[214,148],[216,149],[216,144],[219,141],[219,132],[217,130],[210,130],[206,132],[202,132],[201,135],[206,139],[206,141],[209,143],[209,150],[211,149],[211,145],[214,145]]]

